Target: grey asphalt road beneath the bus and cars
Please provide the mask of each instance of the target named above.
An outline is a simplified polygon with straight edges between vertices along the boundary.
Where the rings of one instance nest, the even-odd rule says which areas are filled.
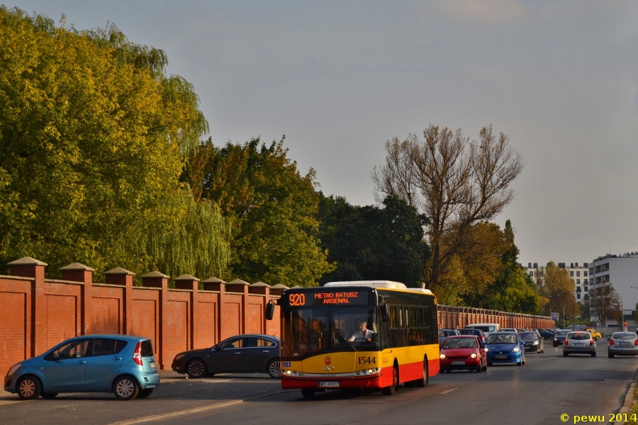
[[[330,391],[306,400],[266,375],[184,380],[167,373],[149,399],[132,402],[86,394],[0,397],[0,424],[573,424],[574,415],[604,415],[607,423],[622,406],[638,357],[608,358],[606,343],[595,358],[564,358],[550,344],[521,367],[440,374],[425,388],[402,386],[390,397]]]

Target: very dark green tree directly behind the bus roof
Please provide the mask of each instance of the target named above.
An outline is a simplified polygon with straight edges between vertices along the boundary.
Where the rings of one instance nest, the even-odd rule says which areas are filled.
[[[337,269],[321,279],[394,280],[417,287],[430,249],[423,239],[427,218],[404,200],[388,196],[384,208],[349,205],[320,193],[321,246]]]

